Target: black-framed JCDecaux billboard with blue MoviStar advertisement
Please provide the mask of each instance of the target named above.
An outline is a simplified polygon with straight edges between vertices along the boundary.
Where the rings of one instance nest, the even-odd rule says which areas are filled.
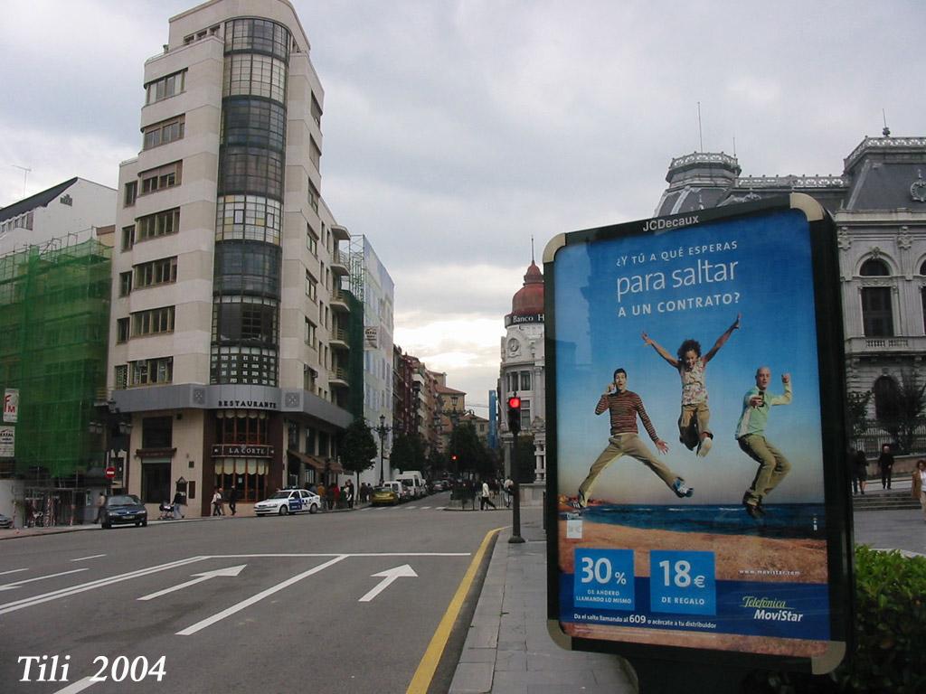
[[[831,670],[851,539],[820,205],[565,234],[544,277],[551,633],[638,658]]]

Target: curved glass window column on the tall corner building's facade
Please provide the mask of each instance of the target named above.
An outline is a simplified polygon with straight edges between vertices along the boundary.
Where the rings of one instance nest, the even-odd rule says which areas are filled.
[[[225,25],[212,383],[279,382],[290,44],[289,31],[269,19]]]

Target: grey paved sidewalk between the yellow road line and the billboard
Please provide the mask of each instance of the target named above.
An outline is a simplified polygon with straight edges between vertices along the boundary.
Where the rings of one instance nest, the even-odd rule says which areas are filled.
[[[506,519],[510,516],[506,516]],[[546,630],[546,535],[541,510],[521,509],[523,544],[511,529],[495,542],[450,694],[632,694],[615,655],[564,651]]]

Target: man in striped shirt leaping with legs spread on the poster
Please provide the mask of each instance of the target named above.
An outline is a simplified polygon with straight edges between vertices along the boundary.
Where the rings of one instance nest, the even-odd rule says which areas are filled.
[[[601,415],[605,410],[611,415],[611,435],[608,437],[607,448],[594,461],[588,471],[588,477],[585,477],[585,480],[579,485],[579,495],[575,502],[572,503],[573,507],[581,510],[588,505],[589,495],[595,479],[608,465],[623,455],[636,458],[646,465],[679,498],[690,497],[694,494],[694,490],[685,484],[685,480],[673,473],[668,465],[660,461],[637,435],[636,419],[637,415],[639,415],[646,433],[656,444],[659,452],[663,454],[669,452],[668,444],[657,436],[656,428],[653,427],[649,415],[646,414],[640,396],[631,390],[627,390],[627,372],[622,368],[614,372],[614,381],[607,384],[607,390],[598,400],[598,404],[594,408],[594,414]]]

